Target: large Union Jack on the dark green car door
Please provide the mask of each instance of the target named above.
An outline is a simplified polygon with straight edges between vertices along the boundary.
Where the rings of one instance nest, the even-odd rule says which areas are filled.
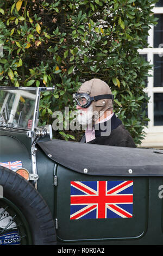
[[[70,220],[133,217],[133,181],[71,181]]]

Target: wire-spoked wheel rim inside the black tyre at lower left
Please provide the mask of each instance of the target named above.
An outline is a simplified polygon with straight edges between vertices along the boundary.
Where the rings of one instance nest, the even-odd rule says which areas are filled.
[[[29,224],[7,198],[0,199],[0,245],[32,245]]]

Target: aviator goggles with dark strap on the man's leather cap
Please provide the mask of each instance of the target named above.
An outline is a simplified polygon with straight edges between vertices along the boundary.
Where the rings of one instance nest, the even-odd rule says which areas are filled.
[[[89,107],[92,101],[103,100],[103,99],[111,99],[114,100],[114,95],[112,94],[103,94],[91,97],[89,94],[86,93],[74,93],[73,94],[74,101],[77,102],[82,108]]]

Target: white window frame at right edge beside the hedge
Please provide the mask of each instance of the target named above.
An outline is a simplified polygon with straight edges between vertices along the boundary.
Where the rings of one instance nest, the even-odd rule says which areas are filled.
[[[163,7],[154,7],[153,8],[154,14],[162,14],[163,15]],[[153,42],[154,42],[154,26],[151,26],[151,29],[149,29],[148,32],[148,44],[149,47],[152,48],[143,48],[139,49],[140,54],[147,54],[147,60],[149,64],[153,65],[153,56],[154,54],[162,54],[163,56],[163,48],[153,48]],[[163,42],[162,42],[163,44]],[[163,145],[163,125],[160,126],[154,126],[154,93],[163,93],[163,87],[153,87],[153,75],[154,70],[153,68],[149,71],[149,74],[152,75],[151,77],[148,77],[148,85],[145,89],[145,92],[148,93],[148,96],[150,97],[150,100],[148,102],[148,118],[150,121],[148,122],[148,127],[145,128],[146,133],[162,133],[161,143]],[[163,109],[162,109],[163,111]]]

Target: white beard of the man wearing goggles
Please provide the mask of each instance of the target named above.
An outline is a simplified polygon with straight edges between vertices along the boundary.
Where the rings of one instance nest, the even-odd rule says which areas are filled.
[[[82,115],[80,114],[82,113]],[[78,109],[77,114],[77,121],[80,125],[90,125],[92,124],[92,117],[93,117],[93,107],[90,105],[87,108],[87,111],[82,111],[82,109]]]

